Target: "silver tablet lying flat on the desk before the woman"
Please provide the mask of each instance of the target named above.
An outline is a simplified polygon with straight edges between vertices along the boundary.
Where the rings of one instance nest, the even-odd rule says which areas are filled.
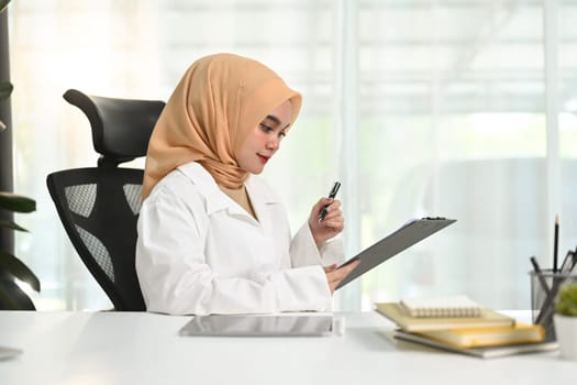
[[[313,337],[331,336],[332,315],[213,315],[195,316],[180,336]]]

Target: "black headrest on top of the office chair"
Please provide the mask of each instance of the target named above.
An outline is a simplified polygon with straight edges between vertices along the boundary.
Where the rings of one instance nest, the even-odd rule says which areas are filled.
[[[160,100],[89,96],[76,89],[64,99],[78,107],[92,129],[92,145],[101,154],[99,167],[115,167],[146,155],[148,140],[165,106]]]

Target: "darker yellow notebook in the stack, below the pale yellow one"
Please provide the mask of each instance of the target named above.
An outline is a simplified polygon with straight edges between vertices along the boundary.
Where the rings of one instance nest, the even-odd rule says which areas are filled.
[[[545,340],[541,324],[515,323],[511,327],[465,328],[420,331],[418,334],[458,348],[498,346]]]

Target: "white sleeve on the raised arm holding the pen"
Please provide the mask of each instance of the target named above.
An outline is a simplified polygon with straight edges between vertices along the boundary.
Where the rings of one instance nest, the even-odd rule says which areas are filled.
[[[317,248],[309,223],[304,224],[292,238],[290,243],[290,258],[292,266],[311,266],[332,264],[340,265],[344,262],[344,246],[340,237],[325,242],[321,250]]]

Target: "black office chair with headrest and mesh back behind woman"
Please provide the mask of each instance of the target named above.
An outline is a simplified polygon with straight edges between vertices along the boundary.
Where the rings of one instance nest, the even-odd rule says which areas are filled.
[[[80,258],[119,311],[146,310],[134,267],[143,170],[119,164],[144,156],[165,102],[87,96],[69,89],[92,129],[98,167],[65,169],[46,179]]]

